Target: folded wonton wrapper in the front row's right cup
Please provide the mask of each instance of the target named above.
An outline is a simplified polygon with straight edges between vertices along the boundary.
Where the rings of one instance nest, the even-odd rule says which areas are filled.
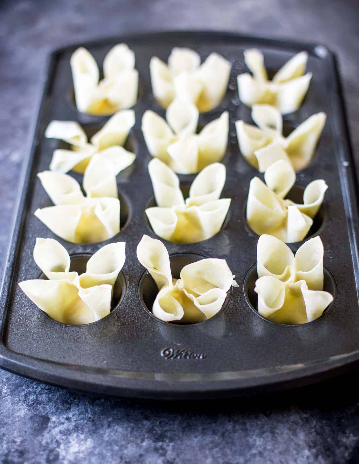
[[[283,324],[303,324],[320,317],[333,296],[323,290],[324,249],[311,238],[295,253],[278,238],[262,235],[257,245],[255,292],[258,312]]]

